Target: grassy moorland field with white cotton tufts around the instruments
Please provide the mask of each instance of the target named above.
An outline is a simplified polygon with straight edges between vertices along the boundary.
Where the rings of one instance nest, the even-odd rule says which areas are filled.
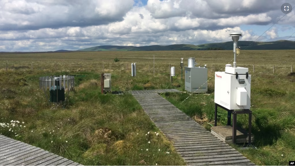
[[[237,150],[257,165],[288,165],[288,161],[295,160],[295,73],[290,73],[294,54],[294,50],[242,50],[237,57],[237,66],[249,67],[252,74],[252,131],[258,148]],[[159,130],[132,95],[101,95],[99,83],[104,70],[112,74],[113,91],[184,91],[181,57],[185,66],[189,57],[196,57],[198,65],[213,65],[212,72],[208,69],[210,95],[162,96],[210,130],[214,120],[214,72],[224,71],[224,65],[233,59],[232,51],[0,53],[0,132],[83,165],[184,165],[171,142],[161,134],[155,135]],[[114,62],[114,58],[120,61]],[[134,62],[137,74],[131,77]],[[169,64],[176,67],[173,84],[169,83]],[[65,108],[50,109],[38,89],[38,79],[59,74],[88,75],[75,77],[76,87]],[[226,111],[220,110],[218,125],[225,125],[226,118]],[[239,115],[237,122],[247,129],[247,115]]]

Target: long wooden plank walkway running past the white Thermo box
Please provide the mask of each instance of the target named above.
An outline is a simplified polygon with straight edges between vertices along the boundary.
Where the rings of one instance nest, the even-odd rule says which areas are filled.
[[[255,165],[159,94],[133,96],[187,165]]]

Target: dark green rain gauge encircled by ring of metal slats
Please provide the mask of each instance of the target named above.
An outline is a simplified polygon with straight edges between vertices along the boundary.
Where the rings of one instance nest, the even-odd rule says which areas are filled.
[[[43,90],[49,105],[50,102],[53,102],[57,106],[58,103],[66,101],[74,86],[74,76],[60,75],[39,78],[39,88]],[[47,88],[49,89],[49,97],[47,95]],[[68,91],[67,97],[65,97],[65,90]]]

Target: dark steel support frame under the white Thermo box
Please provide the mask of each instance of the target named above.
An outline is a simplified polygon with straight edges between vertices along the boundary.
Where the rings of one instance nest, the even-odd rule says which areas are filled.
[[[252,111],[250,109],[230,110],[215,103],[214,126],[217,126],[217,107],[227,111],[227,125],[230,126],[232,114],[232,143],[237,142],[237,114],[249,114],[249,131],[248,131],[248,145],[251,145],[251,129],[252,129]]]

